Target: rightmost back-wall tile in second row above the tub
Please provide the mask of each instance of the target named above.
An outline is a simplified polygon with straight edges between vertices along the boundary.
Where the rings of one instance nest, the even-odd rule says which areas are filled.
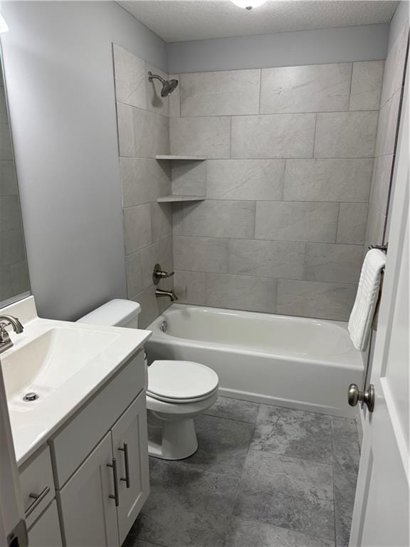
[[[306,244],[305,279],[358,283],[362,258],[362,245],[308,243]]]

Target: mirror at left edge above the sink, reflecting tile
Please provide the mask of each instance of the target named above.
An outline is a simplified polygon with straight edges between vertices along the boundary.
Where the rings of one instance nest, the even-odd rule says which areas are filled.
[[[0,71],[0,307],[30,294],[3,63]]]

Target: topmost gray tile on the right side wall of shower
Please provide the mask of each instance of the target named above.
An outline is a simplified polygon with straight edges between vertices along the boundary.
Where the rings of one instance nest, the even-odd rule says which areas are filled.
[[[404,63],[406,61],[407,42],[409,40],[409,25],[401,31],[390,49],[384,63],[384,78],[382,89],[382,100],[380,105],[391,98],[403,85]]]

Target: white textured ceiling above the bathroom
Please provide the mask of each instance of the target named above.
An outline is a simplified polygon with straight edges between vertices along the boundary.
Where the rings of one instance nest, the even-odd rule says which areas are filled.
[[[397,1],[268,0],[246,11],[230,0],[132,0],[118,4],[164,41],[387,23]]]

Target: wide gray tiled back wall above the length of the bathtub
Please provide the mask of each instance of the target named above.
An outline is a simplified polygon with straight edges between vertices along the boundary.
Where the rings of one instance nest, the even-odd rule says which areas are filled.
[[[362,264],[383,61],[177,77],[172,154],[206,155],[174,206],[182,301],[345,320]],[[184,177],[194,180],[199,164]]]

